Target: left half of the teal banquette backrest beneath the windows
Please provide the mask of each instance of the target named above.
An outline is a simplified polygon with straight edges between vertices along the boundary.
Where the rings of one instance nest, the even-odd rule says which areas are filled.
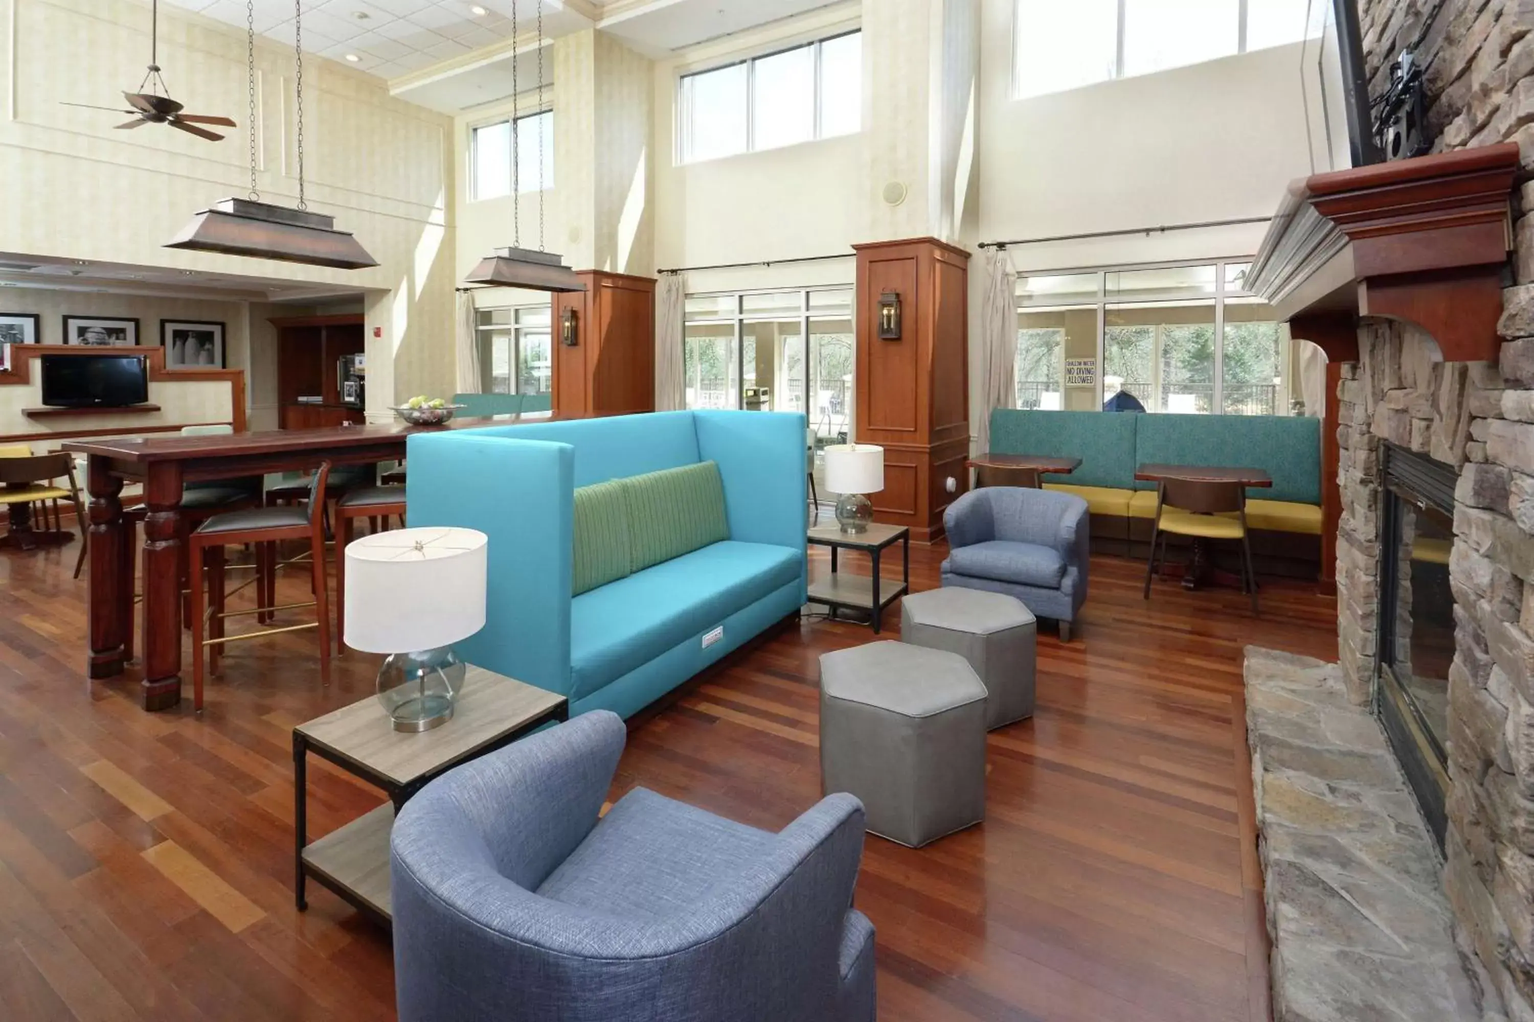
[[[991,412],[991,454],[1034,454],[1049,458],[1080,458],[1071,475],[1048,475],[1051,483],[1117,486],[1135,480],[1135,420],[1141,415],[1111,412],[1022,412],[999,408]]]

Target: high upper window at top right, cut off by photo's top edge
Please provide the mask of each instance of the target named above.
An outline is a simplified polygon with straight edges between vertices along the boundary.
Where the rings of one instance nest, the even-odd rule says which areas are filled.
[[[1017,0],[1012,95],[1065,92],[1315,38],[1330,6],[1319,0]]]

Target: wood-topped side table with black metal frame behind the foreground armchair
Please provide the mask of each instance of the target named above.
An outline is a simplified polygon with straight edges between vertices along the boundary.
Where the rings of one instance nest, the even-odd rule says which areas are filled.
[[[394,731],[373,696],[293,728],[295,901],[308,907],[313,876],[362,915],[390,925],[388,838],[394,814],[431,778],[494,752],[552,720],[569,702],[532,685],[469,667],[453,720],[431,731]],[[308,754],[376,785],[388,801],[308,843]]]

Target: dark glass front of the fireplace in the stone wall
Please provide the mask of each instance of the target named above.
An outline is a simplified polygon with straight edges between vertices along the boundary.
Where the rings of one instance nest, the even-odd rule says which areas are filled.
[[[1454,662],[1454,470],[1385,444],[1376,709],[1428,824],[1443,840],[1448,668]]]

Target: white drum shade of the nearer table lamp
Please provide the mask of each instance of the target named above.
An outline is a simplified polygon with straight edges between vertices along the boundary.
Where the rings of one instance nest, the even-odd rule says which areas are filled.
[[[489,536],[474,529],[396,529],[347,545],[347,645],[417,653],[485,627]]]

